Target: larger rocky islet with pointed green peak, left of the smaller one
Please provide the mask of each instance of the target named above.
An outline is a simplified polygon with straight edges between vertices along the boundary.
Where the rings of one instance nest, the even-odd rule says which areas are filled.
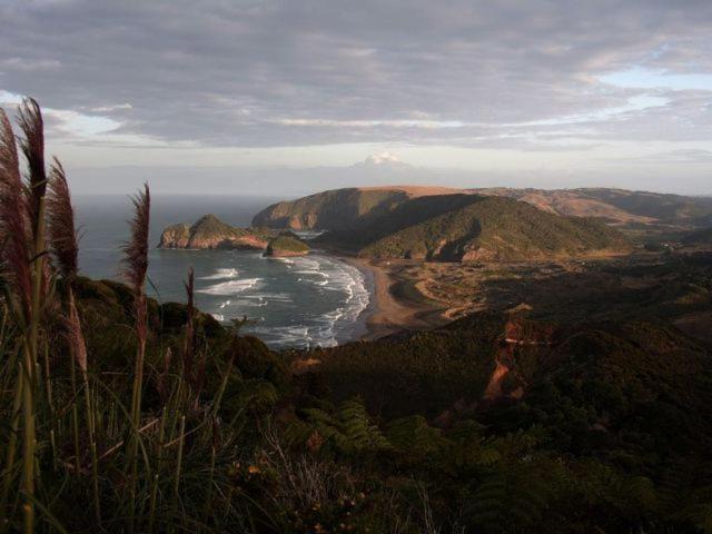
[[[235,228],[215,215],[206,215],[192,226],[171,225],[161,236],[159,248],[234,248],[263,250],[269,235],[259,230]]]

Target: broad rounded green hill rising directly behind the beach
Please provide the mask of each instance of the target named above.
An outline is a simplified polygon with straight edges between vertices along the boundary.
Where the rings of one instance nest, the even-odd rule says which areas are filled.
[[[446,200],[443,202],[442,200]],[[625,238],[601,221],[581,217],[561,217],[510,198],[481,196],[428,197],[418,204],[464,206],[379,237],[379,220],[370,228],[376,238],[358,255],[374,258],[433,260],[516,260],[582,256],[629,250]],[[416,202],[417,200],[414,200]],[[398,215],[412,210],[406,204],[385,217],[384,227],[393,228]],[[399,219],[406,225],[409,220]],[[357,237],[363,240],[368,231]]]

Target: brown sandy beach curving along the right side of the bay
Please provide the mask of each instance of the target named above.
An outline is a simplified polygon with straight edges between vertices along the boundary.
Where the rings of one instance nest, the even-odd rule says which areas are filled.
[[[338,257],[364,273],[373,286],[369,287],[373,298],[362,313],[367,314],[364,318],[366,334],[358,339],[374,340],[404,330],[428,330],[448,322],[442,308],[394,293],[394,288],[403,281],[397,270],[407,263]]]

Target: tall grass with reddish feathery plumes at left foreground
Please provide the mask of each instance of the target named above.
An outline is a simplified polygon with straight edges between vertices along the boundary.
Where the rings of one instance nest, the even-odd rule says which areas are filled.
[[[148,186],[132,199],[125,247],[134,316],[128,338],[136,347],[132,372],[125,374],[90,357],[77,298],[79,243],[69,184],[57,159],[49,171],[44,168],[43,122],[34,100],[22,103],[18,125],[20,138],[0,110],[0,432],[7,437],[0,439],[0,532],[116,532],[127,526],[165,532],[178,525],[209,531],[219,520],[207,515],[216,506],[205,496],[225,500],[226,493],[214,491],[225,483],[215,473],[220,444],[211,422],[219,415],[214,400],[200,400],[206,358],[197,350],[192,271],[185,335],[161,349],[161,386],[156,388],[161,403],[146,407]],[[181,355],[179,372],[172,350]],[[46,355],[42,368],[40,352]],[[222,372],[231,369],[228,365]],[[121,376],[130,378],[128,388]],[[211,416],[201,419],[205,413]],[[221,437],[233,439],[227,432]],[[211,456],[208,475],[200,463]],[[184,492],[202,496],[191,504]],[[76,500],[83,500],[90,518]],[[72,505],[75,515],[60,514],[60,521],[57,503]],[[236,514],[227,502],[217,508],[225,510],[224,516]]]

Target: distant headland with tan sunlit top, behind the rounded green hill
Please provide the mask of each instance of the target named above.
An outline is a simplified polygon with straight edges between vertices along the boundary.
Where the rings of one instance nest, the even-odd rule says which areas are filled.
[[[274,204],[253,218],[253,226],[295,230],[359,228],[409,198],[451,191],[458,192],[457,189],[418,186],[333,189]]]

